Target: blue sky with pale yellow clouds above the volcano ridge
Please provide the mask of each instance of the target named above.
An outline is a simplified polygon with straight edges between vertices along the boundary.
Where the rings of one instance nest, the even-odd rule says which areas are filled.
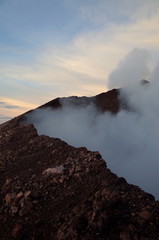
[[[153,67],[158,26],[158,0],[0,0],[0,123],[56,97],[107,91],[133,49]]]

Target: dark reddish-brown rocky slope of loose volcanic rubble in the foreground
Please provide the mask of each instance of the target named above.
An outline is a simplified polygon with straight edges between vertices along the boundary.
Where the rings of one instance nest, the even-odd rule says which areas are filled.
[[[0,131],[1,240],[159,239],[159,203],[98,152],[38,136],[19,118]]]

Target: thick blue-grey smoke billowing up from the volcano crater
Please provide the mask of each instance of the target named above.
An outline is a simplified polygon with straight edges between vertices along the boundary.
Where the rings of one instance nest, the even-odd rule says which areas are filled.
[[[86,146],[100,151],[113,172],[159,199],[159,67],[152,72],[148,67],[139,71],[138,66],[142,65],[141,60],[147,54],[143,50],[135,52],[132,52],[132,58],[131,53],[128,55],[127,63],[123,61],[115,70],[118,85],[121,87],[126,79],[128,83],[130,76],[131,83],[133,79],[136,82],[136,78],[142,79],[145,74],[149,74],[152,83],[130,84],[131,87],[125,84],[127,87],[121,90],[120,97],[126,99],[129,110],[112,115],[98,112],[94,105],[75,107],[63,103],[62,109],[39,109],[31,113],[28,121],[34,123],[39,134],[59,137],[76,147]],[[147,60],[145,62],[143,65],[147,66]],[[133,72],[130,73],[131,68],[126,69],[124,76],[125,67],[130,65]],[[112,73],[110,79],[115,75]]]

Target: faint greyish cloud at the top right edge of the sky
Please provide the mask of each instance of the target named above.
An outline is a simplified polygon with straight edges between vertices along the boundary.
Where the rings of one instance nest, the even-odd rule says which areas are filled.
[[[107,23],[126,23],[136,21],[136,19],[150,19],[159,9],[156,0],[100,0],[85,1],[79,7],[81,17],[85,21],[90,21],[97,26]],[[100,14],[99,14],[100,13]]]

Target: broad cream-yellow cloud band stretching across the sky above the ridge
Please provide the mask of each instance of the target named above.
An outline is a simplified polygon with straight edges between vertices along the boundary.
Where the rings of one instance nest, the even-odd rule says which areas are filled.
[[[80,86],[98,85],[106,88],[106,80],[119,60],[133,48],[145,48],[155,55],[159,50],[158,15],[124,24],[103,25],[79,33],[65,44],[46,43],[35,52],[31,64],[3,64],[1,76],[26,82],[48,84],[69,91]],[[92,82],[90,81],[92,79]],[[67,85],[67,87],[66,87]],[[77,91],[76,88],[74,88]]]

